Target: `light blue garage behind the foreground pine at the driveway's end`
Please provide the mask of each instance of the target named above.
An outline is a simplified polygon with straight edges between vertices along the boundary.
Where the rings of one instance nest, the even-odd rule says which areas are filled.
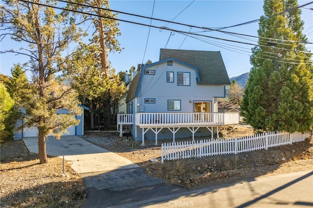
[[[84,105],[79,105],[83,109],[89,110],[89,107],[86,107]],[[23,111],[23,110],[22,110]],[[67,114],[67,110],[59,110],[58,114]],[[68,134],[64,135],[84,135],[84,112],[82,112],[81,115],[76,115],[75,116],[77,120],[80,120],[79,124],[77,126],[70,126],[67,131]],[[14,140],[21,140],[22,138],[26,137],[38,137],[38,129],[33,127],[33,128],[25,128],[22,129],[21,131],[16,130],[19,126],[21,126],[23,121],[17,121],[15,125],[15,130],[14,130]]]

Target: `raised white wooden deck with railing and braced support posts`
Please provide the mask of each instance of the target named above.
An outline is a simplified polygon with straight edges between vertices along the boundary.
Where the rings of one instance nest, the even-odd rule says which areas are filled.
[[[151,129],[157,134],[163,128],[168,128],[173,133],[173,142],[175,142],[175,133],[180,128],[188,128],[192,132],[194,139],[195,132],[200,127],[206,127],[211,132],[213,138],[213,128],[217,131],[222,125],[235,125],[239,123],[239,113],[135,113],[117,115],[117,131],[120,129],[120,135],[123,135],[123,125],[136,125],[142,129],[142,145],[144,145],[144,134]]]

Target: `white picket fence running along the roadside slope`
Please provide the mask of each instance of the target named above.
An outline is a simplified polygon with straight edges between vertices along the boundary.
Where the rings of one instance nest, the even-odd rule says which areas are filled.
[[[203,157],[221,154],[268,149],[273,146],[290,145],[304,141],[309,133],[267,132],[253,136],[233,139],[207,139],[197,141],[172,142],[162,144],[161,162],[191,157]]]

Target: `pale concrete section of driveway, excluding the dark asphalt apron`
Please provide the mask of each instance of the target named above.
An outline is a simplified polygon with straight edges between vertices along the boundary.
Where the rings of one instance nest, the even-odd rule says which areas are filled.
[[[23,138],[28,150],[38,153],[38,138]],[[138,167],[136,164],[113,152],[93,145],[78,136],[62,136],[46,139],[47,155],[58,156],[67,160],[77,173],[112,171]]]

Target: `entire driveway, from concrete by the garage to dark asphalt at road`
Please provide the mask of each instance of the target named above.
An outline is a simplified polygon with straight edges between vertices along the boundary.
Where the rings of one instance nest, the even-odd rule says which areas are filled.
[[[30,152],[38,153],[38,138],[23,139]],[[87,189],[84,208],[103,208],[138,201],[142,198],[179,193],[161,178],[150,177],[133,162],[93,145],[78,136],[46,139],[47,155],[59,156],[80,173]]]

